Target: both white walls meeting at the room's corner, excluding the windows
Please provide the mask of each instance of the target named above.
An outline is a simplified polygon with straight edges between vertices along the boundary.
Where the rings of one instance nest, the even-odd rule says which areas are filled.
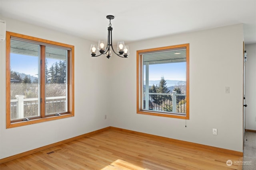
[[[242,24],[131,43],[128,59],[108,60],[90,57],[90,41],[3,19],[7,31],[75,46],[75,116],[6,129],[6,44],[0,43],[0,158],[108,126],[242,152]],[[187,127],[183,119],[136,114],[136,51],[183,43],[190,43]]]

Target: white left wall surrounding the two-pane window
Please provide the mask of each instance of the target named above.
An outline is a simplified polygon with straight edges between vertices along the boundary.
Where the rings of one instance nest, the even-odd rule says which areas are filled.
[[[1,17],[2,18],[2,17]],[[6,43],[0,43],[0,158],[5,158],[110,126],[108,60],[90,57],[90,41],[20,21],[6,20],[6,30],[75,46],[75,116],[6,129]],[[85,30],[90,31],[90,30]],[[100,92],[100,93],[99,93]]]

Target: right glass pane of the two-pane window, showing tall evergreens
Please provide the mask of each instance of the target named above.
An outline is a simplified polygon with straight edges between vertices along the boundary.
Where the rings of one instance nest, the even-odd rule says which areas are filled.
[[[67,112],[67,50],[46,47],[45,115]]]

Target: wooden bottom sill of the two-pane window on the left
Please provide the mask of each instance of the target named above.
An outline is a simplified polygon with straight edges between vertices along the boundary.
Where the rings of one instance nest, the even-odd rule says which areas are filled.
[[[44,118],[39,118],[39,119],[32,119],[32,120],[28,120],[28,121],[19,121],[19,122],[15,122],[15,123],[8,123],[8,124],[6,124],[6,129],[12,128],[12,127],[32,125],[32,124],[36,124],[36,123],[52,121],[52,120],[57,120],[57,119],[64,119],[67,117],[73,117],[73,115],[71,113],[68,113],[68,114],[59,115],[59,116],[51,116],[51,117],[44,117]]]

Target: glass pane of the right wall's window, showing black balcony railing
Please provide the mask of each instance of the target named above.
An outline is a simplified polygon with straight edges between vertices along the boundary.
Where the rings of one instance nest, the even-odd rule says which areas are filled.
[[[142,109],[186,113],[186,49],[143,55]]]

